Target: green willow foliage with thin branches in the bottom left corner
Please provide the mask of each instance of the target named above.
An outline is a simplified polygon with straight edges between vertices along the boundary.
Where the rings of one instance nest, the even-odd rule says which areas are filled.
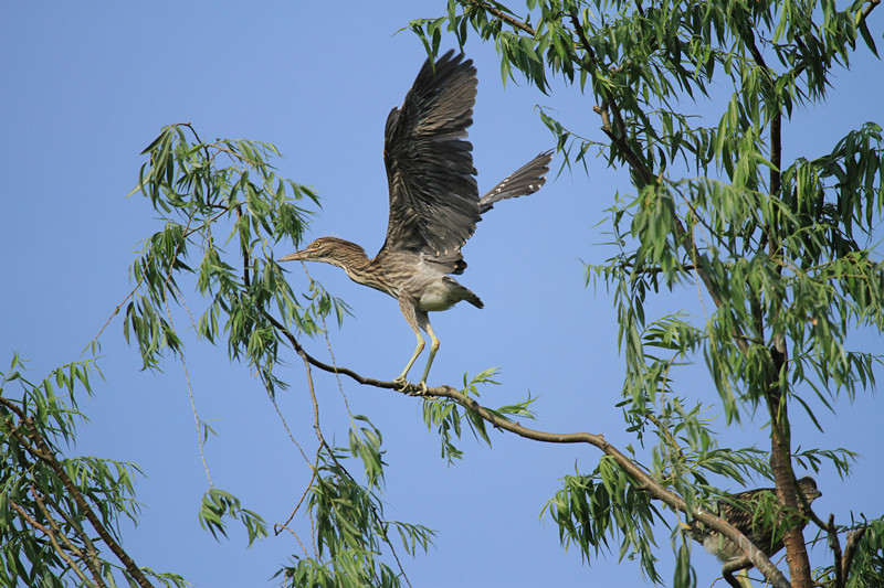
[[[62,457],[85,417],[77,394],[92,394],[94,360],[31,382],[13,356],[0,374],[0,584],[4,586],[133,585],[152,576],[185,586],[180,576],[137,569],[119,557],[120,518],[138,521],[131,463]],[[124,554],[125,555],[125,554]],[[116,557],[114,557],[116,556]]]

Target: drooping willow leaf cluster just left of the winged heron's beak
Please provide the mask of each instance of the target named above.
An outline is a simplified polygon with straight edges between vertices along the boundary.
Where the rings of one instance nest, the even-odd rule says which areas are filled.
[[[127,341],[138,344],[145,367],[181,352],[170,303],[183,303],[179,280],[187,277],[208,302],[198,334],[215,342],[223,333],[231,359],[252,366],[272,394],[284,384],[273,375],[281,334],[267,311],[306,334],[320,332],[329,313],[340,321],[347,311],[317,282],[308,295],[295,295],[274,259],[274,245],[302,240],[308,212],[297,203],[317,203],[315,192],[277,175],[267,161],[278,157],[274,146],[202,142],[189,125],[166,127],[144,154],[148,162],[133,193],[149,199],[165,226],[144,242],[131,266]]]

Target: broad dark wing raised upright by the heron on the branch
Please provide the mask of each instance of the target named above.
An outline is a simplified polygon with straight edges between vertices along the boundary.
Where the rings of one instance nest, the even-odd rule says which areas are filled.
[[[480,220],[473,146],[476,70],[450,51],[428,60],[401,108],[387,118],[383,161],[390,186],[390,222],[380,253],[422,253],[457,263]]]

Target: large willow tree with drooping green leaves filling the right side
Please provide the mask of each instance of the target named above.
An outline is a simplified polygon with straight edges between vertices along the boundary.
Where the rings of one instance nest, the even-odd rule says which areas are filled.
[[[845,474],[855,456],[796,451],[804,443],[792,439],[789,410],[819,426],[821,408],[874,385],[880,354],[851,349],[848,336],[884,330],[882,128],[867,121],[833,145],[791,145],[783,129],[802,110],[824,108],[852,55],[877,55],[870,31],[877,3],[450,0],[445,15],[411,23],[430,53],[445,34],[462,46],[476,35],[495,44],[505,82],[526,79],[554,103],[556,93],[582,94],[598,117],[589,128],[540,108],[566,164],[601,157],[629,170],[631,188],[609,209],[617,253],[587,266],[587,281],[614,295],[623,415],[649,443],[634,457],[684,500],[688,520],[697,507],[715,509],[717,487],[746,487],[753,477],[772,478],[779,500],[796,509],[797,469]],[[691,291],[693,312],[649,316],[656,295]],[[706,366],[716,406],[682,389],[696,364]],[[767,450],[718,445],[709,415],[734,424],[759,411],[769,418]],[[604,461],[578,473],[549,503],[562,543],[589,557],[620,537],[621,557],[632,554],[661,580],[648,522],[666,517],[631,490],[649,482]],[[833,545],[862,526],[819,522]],[[801,528],[779,532],[791,582],[810,586]],[[880,558],[880,542],[860,543]],[[676,552],[675,585],[691,585],[690,558]],[[849,571],[867,569],[839,560],[814,576],[841,585]],[[762,573],[786,581],[772,568]]]

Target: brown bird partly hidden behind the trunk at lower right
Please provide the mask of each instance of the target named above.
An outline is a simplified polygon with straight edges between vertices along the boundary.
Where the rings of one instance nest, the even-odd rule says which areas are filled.
[[[809,475],[798,480],[798,489],[803,494],[804,501],[799,499],[799,518],[792,520],[791,524],[798,524],[803,528],[808,523],[810,503],[822,496],[822,492],[817,489],[817,482]],[[771,506],[775,507],[776,521],[778,521],[776,525],[772,524],[771,516],[767,515]],[[771,557],[782,549],[782,532],[779,526],[787,515],[777,499],[777,490],[775,488],[758,488],[737,494],[728,494],[718,501],[717,507],[718,516],[743,533],[766,556]],[[692,528],[695,538],[703,543],[707,552],[722,562],[735,562],[744,557],[745,554],[739,546],[733,541],[723,537],[716,531],[712,528],[699,530],[696,526]]]

